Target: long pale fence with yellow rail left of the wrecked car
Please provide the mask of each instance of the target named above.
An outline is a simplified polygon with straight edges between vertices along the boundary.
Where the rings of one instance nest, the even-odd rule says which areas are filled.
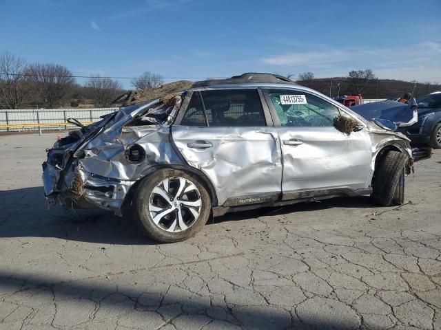
[[[91,124],[100,120],[101,115],[114,112],[119,108],[94,109],[23,109],[0,110],[0,131],[43,131],[53,129],[73,129],[67,122],[75,118],[81,124]]]

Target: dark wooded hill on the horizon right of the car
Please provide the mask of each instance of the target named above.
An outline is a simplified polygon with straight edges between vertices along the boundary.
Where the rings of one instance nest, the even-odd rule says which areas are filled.
[[[354,85],[347,77],[337,78],[316,78],[312,80],[298,80],[299,85],[320,91],[320,93],[331,97],[338,96],[340,85],[340,95],[354,94]],[[372,79],[363,84],[363,98],[398,98],[406,92],[412,92],[416,98],[432,93],[433,91],[441,91],[441,85],[435,83],[413,83],[403,80],[393,79]]]

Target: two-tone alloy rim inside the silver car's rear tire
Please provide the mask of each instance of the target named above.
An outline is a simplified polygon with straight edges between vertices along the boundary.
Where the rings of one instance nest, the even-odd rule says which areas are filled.
[[[201,206],[201,194],[192,181],[171,177],[154,187],[148,208],[150,217],[159,228],[167,232],[181,232],[196,222]]]

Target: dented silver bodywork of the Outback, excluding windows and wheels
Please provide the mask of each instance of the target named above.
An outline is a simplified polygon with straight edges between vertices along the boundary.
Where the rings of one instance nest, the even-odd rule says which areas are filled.
[[[181,94],[123,107],[81,133],[71,133],[54,144],[43,163],[48,205],[93,206],[121,215],[136,183],[164,167],[199,177],[210,191],[213,207],[366,195],[383,148],[412,157],[404,135],[382,129],[342,104],[298,85],[292,87],[297,94],[305,91],[325,98],[356,118],[360,130],[348,136],[334,127],[277,126],[261,93],[266,126],[180,124],[190,98],[198,91],[258,90],[263,85],[289,87],[196,84]],[[302,143],[285,143],[289,140]]]

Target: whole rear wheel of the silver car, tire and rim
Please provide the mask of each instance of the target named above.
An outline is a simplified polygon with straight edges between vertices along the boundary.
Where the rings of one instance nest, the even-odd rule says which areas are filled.
[[[211,200],[194,175],[169,168],[145,177],[133,198],[133,219],[150,239],[184,241],[200,231],[209,218]]]

